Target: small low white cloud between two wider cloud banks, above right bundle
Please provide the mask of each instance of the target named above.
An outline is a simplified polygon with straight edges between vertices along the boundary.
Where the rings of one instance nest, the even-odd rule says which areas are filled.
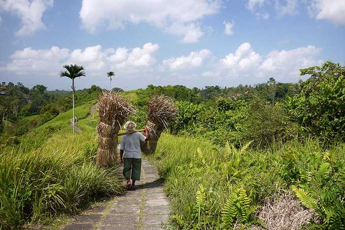
[[[170,70],[186,69],[200,67],[204,59],[211,55],[211,51],[203,49],[200,51],[191,52],[188,56],[172,57],[163,60],[163,66]]]

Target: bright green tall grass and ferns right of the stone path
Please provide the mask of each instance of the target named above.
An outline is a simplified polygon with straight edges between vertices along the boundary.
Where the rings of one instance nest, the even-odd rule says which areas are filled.
[[[220,148],[193,138],[162,135],[153,158],[165,179],[175,227],[264,225],[264,220],[253,217],[253,210],[276,194],[292,192],[291,185],[319,202],[318,210],[345,210],[341,189],[345,187],[345,144],[328,150],[316,140],[303,144],[293,140],[267,150],[248,146]],[[327,228],[327,217],[318,210],[313,211]]]

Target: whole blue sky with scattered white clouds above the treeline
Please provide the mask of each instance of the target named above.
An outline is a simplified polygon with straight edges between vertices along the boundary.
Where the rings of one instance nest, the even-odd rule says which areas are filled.
[[[344,41],[345,0],[0,0],[0,81],[49,90],[297,82]]]

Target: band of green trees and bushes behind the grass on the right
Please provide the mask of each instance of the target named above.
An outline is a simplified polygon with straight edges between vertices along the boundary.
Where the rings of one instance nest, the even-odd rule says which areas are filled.
[[[172,134],[208,139],[218,145],[229,142],[237,147],[248,141],[265,146],[296,137],[303,141],[308,136],[327,142],[343,140],[344,69],[331,62],[301,69],[301,75],[310,78],[298,84],[277,83],[270,78],[255,86],[201,90],[150,85],[131,93],[139,108],[134,120],[142,120],[152,95],[165,94],[174,98],[179,108],[176,120],[169,124]]]

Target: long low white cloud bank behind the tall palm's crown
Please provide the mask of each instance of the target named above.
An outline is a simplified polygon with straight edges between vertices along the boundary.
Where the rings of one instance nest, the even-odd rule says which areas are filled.
[[[78,64],[83,65],[87,73],[103,74],[114,68],[122,72],[145,71],[155,63],[154,53],[158,49],[158,44],[152,43],[145,44],[143,48],[133,48],[131,51],[126,48],[103,49],[100,45],[73,51],[56,46],[40,50],[28,47],[14,52],[10,56],[11,61],[0,67],[0,70],[14,71],[17,74],[57,76],[62,65]]]

